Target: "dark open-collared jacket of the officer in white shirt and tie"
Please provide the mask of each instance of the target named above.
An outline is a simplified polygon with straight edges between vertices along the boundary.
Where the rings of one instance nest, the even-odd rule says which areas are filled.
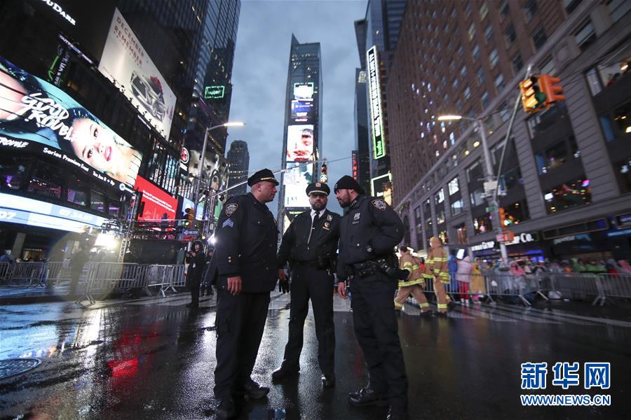
[[[340,221],[339,214],[325,210],[311,230],[311,210],[296,216],[280,242],[278,268],[285,267],[287,262],[293,266],[297,262],[317,262],[318,258],[336,260]]]

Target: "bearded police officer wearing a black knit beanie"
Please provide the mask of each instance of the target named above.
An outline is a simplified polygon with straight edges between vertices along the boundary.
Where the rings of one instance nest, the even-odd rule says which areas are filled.
[[[388,420],[407,419],[407,377],[393,302],[394,247],[403,239],[403,223],[384,200],[365,196],[351,176],[342,176],[334,191],[348,209],[340,225],[338,293],[347,297],[344,279],[351,277],[355,336],[369,377],[367,386],[348,394],[348,402],[390,405]]]

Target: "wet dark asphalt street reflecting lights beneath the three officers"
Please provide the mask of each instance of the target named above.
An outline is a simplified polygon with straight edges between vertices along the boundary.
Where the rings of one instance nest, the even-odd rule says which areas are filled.
[[[0,359],[39,358],[0,380],[0,419],[212,419],[215,310],[197,313],[185,295],[0,307]],[[273,297],[253,379],[270,384],[283,357],[287,295]],[[399,333],[409,377],[411,419],[629,419],[631,320],[588,304],[456,307],[424,319],[406,305]],[[611,312],[611,309],[609,309]],[[384,419],[387,409],[350,407],[365,384],[348,302],[336,298],[337,385],[323,389],[313,316],[305,325],[298,377],[272,384],[269,398],[245,402],[240,419]],[[520,364],[611,363],[611,388],[520,389]],[[582,375],[581,375],[582,376]],[[611,395],[610,407],[522,407],[520,393]]]

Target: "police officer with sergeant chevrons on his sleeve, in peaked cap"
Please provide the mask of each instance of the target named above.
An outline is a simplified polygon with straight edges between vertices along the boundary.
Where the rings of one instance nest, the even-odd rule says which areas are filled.
[[[217,261],[217,367],[215,397],[219,419],[236,415],[235,399],[264,398],[269,388],[252,380],[269,293],[276,286],[278,228],[266,206],[278,181],[269,169],[247,179],[250,193],[231,197],[219,215]]]

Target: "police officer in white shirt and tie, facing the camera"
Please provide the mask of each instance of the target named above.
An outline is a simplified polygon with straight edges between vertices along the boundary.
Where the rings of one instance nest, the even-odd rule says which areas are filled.
[[[278,250],[278,278],[287,281],[285,264],[289,261],[292,284],[289,339],[285,346],[283,364],[272,374],[279,380],[297,374],[302,350],[304,320],[309,310],[309,299],[315,318],[315,336],[318,337],[318,363],[323,386],[335,384],[333,327],[333,295],[337,243],[339,241],[339,214],[326,209],[331,193],[325,183],[311,183],[306,194],[311,204],[294,218],[283,235]],[[283,283],[280,283],[282,286]]]

